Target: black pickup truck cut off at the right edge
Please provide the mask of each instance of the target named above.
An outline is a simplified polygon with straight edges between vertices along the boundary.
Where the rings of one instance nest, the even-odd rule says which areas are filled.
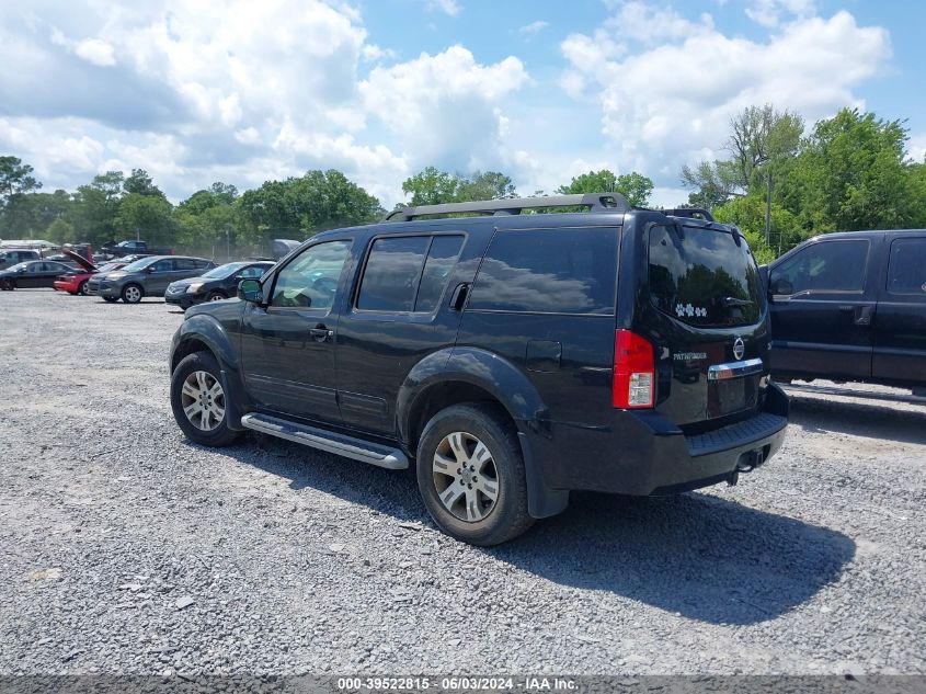
[[[926,388],[926,230],[819,236],[763,274],[776,379]]]

